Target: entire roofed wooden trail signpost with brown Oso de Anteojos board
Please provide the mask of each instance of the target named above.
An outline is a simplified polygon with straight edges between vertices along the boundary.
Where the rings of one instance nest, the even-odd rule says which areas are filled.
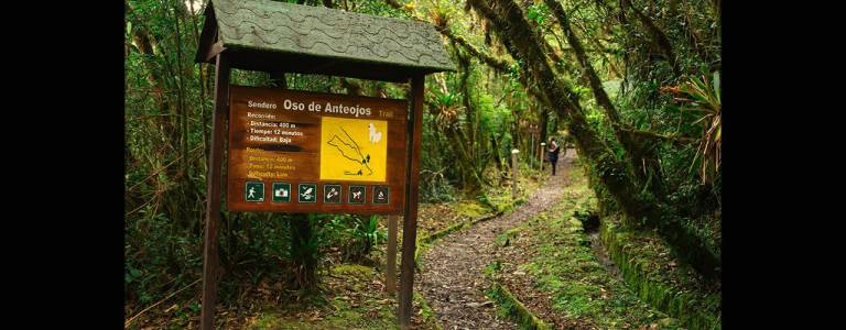
[[[455,70],[416,21],[261,0],[212,0],[195,61],[215,64],[200,328],[214,329],[228,211],[402,215],[399,323],[411,326],[424,77]],[[409,100],[230,86],[230,69],[410,82]],[[229,153],[221,185],[224,142]]]

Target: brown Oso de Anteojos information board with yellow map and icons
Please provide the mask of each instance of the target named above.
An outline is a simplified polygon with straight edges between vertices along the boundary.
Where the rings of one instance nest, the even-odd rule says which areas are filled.
[[[227,209],[402,213],[406,107],[231,86]]]

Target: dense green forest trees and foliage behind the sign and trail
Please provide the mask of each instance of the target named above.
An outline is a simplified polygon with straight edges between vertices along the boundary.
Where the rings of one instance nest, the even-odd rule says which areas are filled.
[[[206,2],[124,1],[128,315],[200,277],[214,66],[193,58]],[[565,136],[584,154],[605,215],[626,213],[623,224],[631,228],[661,229],[693,264],[702,260],[696,255],[719,260],[719,1],[289,2],[423,20],[444,35],[458,72],[426,78],[422,201],[475,198],[482,188],[502,186],[512,148],[521,151],[522,166],[538,167],[539,143]],[[511,6],[525,25],[502,14]],[[520,33],[538,42],[520,43]],[[554,81],[538,78],[542,66],[530,56],[532,47],[542,52]],[[284,79],[290,89],[409,94],[406,84],[299,74]],[[236,69],[231,80],[271,86],[273,79]],[[570,99],[558,102],[555,88]],[[632,205],[658,207],[640,212]],[[307,221],[306,237],[292,228],[303,223],[296,221]],[[294,265],[319,271],[339,260],[364,261],[383,241],[378,222],[224,212],[221,299],[241,290],[239,280],[282,274],[302,285]],[[698,250],[706,252],[684,254]],[[198,298],[198,286],[183,295]]]

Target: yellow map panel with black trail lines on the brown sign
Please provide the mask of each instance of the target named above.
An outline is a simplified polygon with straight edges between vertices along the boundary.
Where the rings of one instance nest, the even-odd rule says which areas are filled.
[[[323,117],[321,180],[384,182],[388,122]]]

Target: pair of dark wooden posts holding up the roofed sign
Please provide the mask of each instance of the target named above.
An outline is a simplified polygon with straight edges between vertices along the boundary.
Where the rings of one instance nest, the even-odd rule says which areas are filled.
[[[227,53],[220,51],[215,58],[215,102],[212,123],[210,155],[208,164],[208,186],[205,223],[205,244],[203,248],[203,304],[200,329],[214,329],[215,304],[217,302],[218,273],[218,224],[220,222],[220,185],[224,166],[224,141],[226,122],[229,116],[229,92],[231,68]],[[411,98],[406,121],[406,153],[404,166],[404,189],[402,191],[402,260],[400,264],[399,323],[401,329],[410,329],[412,315],[412,295],[414,283],[414,252],[417,232],[417,197],[420,195],[420,147],[422,143],[424,74],[413,74]],[[400,193],[400,191],[398,191]]]

